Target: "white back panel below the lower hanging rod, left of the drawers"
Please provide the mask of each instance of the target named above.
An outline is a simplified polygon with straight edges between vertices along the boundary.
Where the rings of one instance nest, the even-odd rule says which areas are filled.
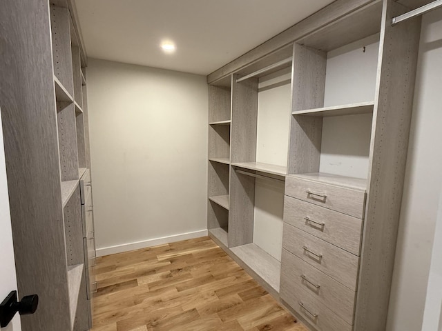
[[[253,243],[281,261],[284,182],[256,179]]]

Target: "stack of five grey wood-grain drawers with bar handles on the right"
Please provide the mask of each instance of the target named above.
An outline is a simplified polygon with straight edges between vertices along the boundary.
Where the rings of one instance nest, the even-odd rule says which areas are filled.
[[[286,179],[280,297],[321,331],[352,330],[365,190]]]

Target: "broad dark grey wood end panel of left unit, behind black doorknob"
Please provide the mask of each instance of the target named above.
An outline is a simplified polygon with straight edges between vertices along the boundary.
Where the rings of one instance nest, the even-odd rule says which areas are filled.
[[[50,9],[44,0],[0,6],[0,106],[18,290],[39,294],[38,313],[21,317],[21,327],[70,330]]]

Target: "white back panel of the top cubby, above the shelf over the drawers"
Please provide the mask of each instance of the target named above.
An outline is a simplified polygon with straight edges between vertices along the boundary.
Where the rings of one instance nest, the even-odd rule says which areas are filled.
[[[378,50],[379,34],[374,34],[327,54],[325,107],[373,101]]]

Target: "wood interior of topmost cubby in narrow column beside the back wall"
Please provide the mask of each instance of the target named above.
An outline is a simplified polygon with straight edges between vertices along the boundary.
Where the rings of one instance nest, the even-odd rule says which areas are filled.
[[[209,85],[209,123],[230,121],[231,89],[224,86]]]

